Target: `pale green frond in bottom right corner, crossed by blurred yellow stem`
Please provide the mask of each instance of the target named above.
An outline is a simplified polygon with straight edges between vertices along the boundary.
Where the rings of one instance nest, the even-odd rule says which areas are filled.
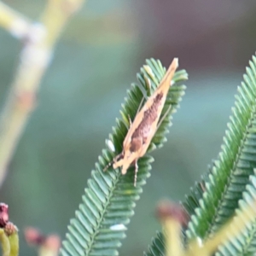
[[[247,185],[246,191],[243,193],[243,199],[239,201],[239,209],[237,213],[247,205],[252,205],[256,201],[256,175],[250,177],[250,183]],[[247,229],[242,230],[241,235],[232,238],[228,243],[219,248],[217,255],[254,255],[256,251],[256,219],[253,224],[247,224]]]

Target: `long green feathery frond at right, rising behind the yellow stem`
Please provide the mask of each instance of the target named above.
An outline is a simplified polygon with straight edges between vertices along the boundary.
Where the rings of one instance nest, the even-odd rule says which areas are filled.
[[[235,96],[218,160],[208,173],[201,199],[193,197],[192,203],[199,207],[189,222],[189,239],[206,238],[234,214],[256,167],[256,57],[249,66]],[[188,204],[191,206],[191,202]]]

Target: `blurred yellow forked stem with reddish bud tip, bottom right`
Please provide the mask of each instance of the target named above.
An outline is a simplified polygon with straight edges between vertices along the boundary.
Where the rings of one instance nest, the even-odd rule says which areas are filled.
[[[157,208],[157,215],[160,218],[165,238],[166,256],[210,256],[218,250],[218,247],[232,241],[236,236],[248,227],[248,224],[255,222],[256,201],[244,205],[236,216],[230,218],[216,233],[212,234],[207,241],[201,238],[189,241],[187,248],[183,248],[181,241],[181,227],[187,223],[187,216],[183,208],[168,201],[162,201]]]

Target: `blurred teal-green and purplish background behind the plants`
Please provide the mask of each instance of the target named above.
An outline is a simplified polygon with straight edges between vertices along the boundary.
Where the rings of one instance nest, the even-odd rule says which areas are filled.
[[[44,1],[4,1],[32,19]],[[36,255],[26,226],[62,238],[90,171],[119,117],[125,91],[146,58],[179,57],[188,89],[131,219],[120,255],[142,255],[160,224],[162,198],[183,201],[218,154],[247,61],[256,49],[256,2],[234,0],[87,1],[55,49],[38,108],[26,126],[1,201],[20,229],[20,255]],[[0,31],[0,102],[9,93],[22,43]]]

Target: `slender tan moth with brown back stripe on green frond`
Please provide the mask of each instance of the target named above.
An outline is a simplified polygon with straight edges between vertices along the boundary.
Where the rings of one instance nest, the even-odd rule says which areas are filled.
[[[155,132],[170,110],[169,108],[160,120],[160,115],[166,102],[166,96],[172,85],[172,78],[177,67],[178,60],[174,58],[159,86],[154,90],[154,93],[148,97],[147,102],[145,102],[143,108],[138,111],[132,123],[130,119],[130,128],[125,136],[122,152],[114,157],[113,161],[110,162],[103,171],[106,171],[109,166],[113,165],[113,169],[121,167],[121,172],[124,175],[127,169],[131,165],[134,165],[134,186],[136,186],[138,172],[137,160],[146,154]]]

